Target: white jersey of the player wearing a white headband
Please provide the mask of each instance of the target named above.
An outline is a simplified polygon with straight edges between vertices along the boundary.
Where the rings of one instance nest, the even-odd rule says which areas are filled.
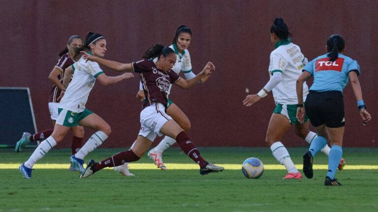
[[[96,62],[85,61],[81,57],[72,65],[74,70],[72,81],[69,83],[59,108],[74,112],[83,112],[88,101],[89,93],[95,86],[98,75],[104,72]]]

